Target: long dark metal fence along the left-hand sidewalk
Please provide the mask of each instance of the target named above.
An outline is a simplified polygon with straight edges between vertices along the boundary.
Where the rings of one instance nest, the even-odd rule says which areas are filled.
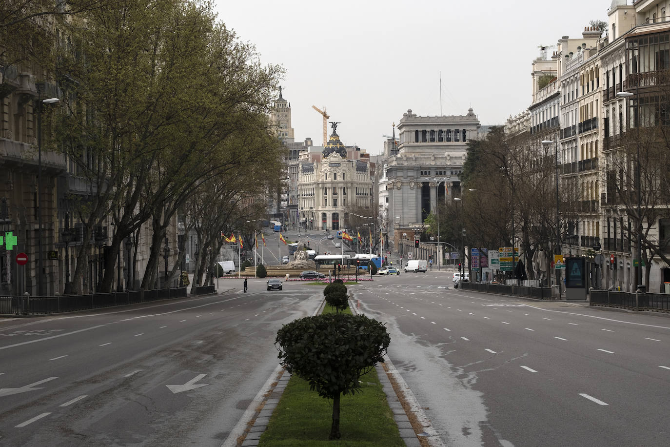
[[[74,312],[186,297],[186,288],[62,296],[0,296],[0,314],[38,315]]]

